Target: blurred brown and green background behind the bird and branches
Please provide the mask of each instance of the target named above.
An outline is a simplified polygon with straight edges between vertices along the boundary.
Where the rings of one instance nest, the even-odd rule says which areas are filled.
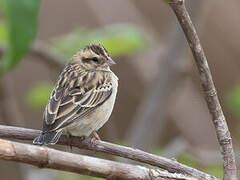
[[[186,0],[186,5],[239,164],[240,2]],[[64,63],[89,43],[103,44],[117,62],[112,70],[119,91],[112,116],[99,131],[102,140],[174,158],[221,178],[220,150],[198,72],[163,0],[0,0],[0,123],[41,129],[43,109]],[[0,161],[0,174],[19,180],[99,179],[6,161]]]

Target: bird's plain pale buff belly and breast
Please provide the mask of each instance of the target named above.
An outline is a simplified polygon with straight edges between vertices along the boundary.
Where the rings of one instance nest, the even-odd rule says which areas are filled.
[[[73,136],[89,136],[93,131],[100,129],[109,119],[117,95],[118,79],[114,79],[113,91],[110,98],[102,105],[97,107],[86,117],[81,118],[66,129]]]

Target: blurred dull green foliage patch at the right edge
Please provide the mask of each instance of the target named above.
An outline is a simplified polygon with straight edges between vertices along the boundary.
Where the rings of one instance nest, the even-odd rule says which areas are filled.
[[[240,117],[240,85],[234,87],[226,96],[229,110],[238,118]]]

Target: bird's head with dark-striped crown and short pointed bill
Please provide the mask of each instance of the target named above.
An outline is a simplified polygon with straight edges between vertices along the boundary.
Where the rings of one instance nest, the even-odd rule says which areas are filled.
[[[109,70],[110,65],[116,64],[100,44],[90,44],[84,47],[73,59],[87,70]]]

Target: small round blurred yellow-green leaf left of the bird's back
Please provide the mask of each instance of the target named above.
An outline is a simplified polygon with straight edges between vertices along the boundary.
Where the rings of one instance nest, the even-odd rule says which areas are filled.
[[[48,102],[53,85],[48,82],[35,84],[27,94],[27,104],[35,109],[44,108]]]

